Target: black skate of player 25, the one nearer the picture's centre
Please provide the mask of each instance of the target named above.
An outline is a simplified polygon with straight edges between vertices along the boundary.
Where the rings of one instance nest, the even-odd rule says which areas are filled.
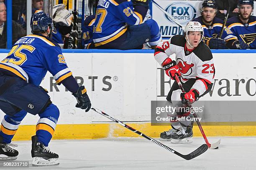
[[[59,165],[59,155],[51,152],[49,147],[45,147],[41,142],[37,142],[37,136],[32,136],[32,150],[31,156],[33,157],[33,166],[49,166]]]

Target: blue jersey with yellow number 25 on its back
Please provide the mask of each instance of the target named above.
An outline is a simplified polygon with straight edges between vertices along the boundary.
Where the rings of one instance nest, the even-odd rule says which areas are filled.
[[[41,34],[20,38],[1,61],[0,68],[36,86],[44,79],[47,71],[54,76],[57,84],[72,75],[59,45]]]

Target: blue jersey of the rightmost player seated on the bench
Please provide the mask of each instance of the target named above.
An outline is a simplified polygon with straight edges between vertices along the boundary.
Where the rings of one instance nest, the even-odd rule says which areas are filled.
[[[249,46],[250,49],[256,49],[256,16],[251,15],[248,23],[244,24],[239,16],[227,20],[227,26],[232,32]]]

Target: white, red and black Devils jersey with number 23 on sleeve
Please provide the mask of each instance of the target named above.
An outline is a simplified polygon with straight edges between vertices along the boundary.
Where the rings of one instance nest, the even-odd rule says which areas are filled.
[[[184,36],[176,35],[169,41],[162,41],[156,47],[154,56],[156,61],[162,63],[172,54],[176,54],[176,63],[181,72],[182,82],[196,79],[191,89],[197,89],[202,95],[213,81],[215,69],[212,53],[208,46],[200,42],[192,51],[186,48]]]

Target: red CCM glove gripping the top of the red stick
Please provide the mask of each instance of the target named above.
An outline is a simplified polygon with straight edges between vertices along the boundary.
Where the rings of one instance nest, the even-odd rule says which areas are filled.
[[[172,80],[175,79],[175,74],[180,76],[179,67],[176,64],[176,61],[172,61],[171,58],[166,58],[162,63],[162,67],[165,70],[166,75],[171,77]]]

